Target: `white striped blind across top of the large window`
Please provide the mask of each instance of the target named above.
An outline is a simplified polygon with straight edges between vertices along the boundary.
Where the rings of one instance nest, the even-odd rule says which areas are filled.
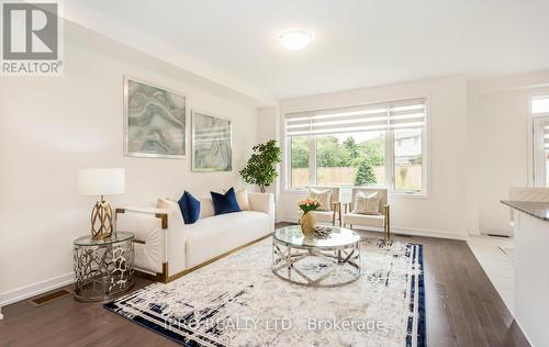
[[[425,126],[425,99],[288,113],[288,136],[417,128]]]

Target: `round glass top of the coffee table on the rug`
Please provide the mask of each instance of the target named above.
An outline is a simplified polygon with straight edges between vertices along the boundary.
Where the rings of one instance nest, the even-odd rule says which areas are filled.
[[[274,231],[273,237],[288,246],[334,248],[355,244],[360,240],[360,235],[351,230],[329,226],[332,233],[327,238],[305,237],[299,225],[291,225]]]

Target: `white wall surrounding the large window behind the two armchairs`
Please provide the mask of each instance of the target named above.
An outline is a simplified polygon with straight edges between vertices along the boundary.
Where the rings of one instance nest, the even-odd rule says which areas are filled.
[[[467,232],[467,80],[464,77],[427,79],[399,85],[281,101],[281,113],[427,97],[429,197],[390,197],[393,228],[424,235],[464,238]],[[283,136],[283,135],[282,135]],[[284,170],[285,171],[285,170]],[[284,182],[282,174],[282,182]],[[283,183],[282,183],[283,184]],[[279,214],[296,219],[295,201],[304,194],[283,190]]]

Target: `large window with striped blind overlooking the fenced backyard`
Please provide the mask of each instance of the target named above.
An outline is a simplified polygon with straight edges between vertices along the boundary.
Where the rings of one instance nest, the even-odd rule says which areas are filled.
[[[287,187],[424,192],[425,109],[419,99],[287,114]]]

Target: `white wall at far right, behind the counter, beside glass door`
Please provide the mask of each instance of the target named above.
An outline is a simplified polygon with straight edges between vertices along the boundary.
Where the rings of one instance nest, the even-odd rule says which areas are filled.
[[[536,72],[469,83],[469,230],[512,234],[509,187],[528,184],[530,99],[549,93],[549,74]]]

